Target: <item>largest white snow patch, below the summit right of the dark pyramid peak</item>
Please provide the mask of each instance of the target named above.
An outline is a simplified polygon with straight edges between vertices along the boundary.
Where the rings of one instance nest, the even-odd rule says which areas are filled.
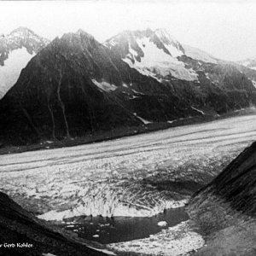
[[[166,54],[163,49],[159,49],[150,38],[137,38],[137,44],[143,50],[144,55],[141,57],[141,61],[137,61],[135,58],[137,51],[130,47],[129,54],[123,59],[130,67],[136,68],[140,73],[154,79],[171,75],[177,79],[197,80],[197,74],[193,69],[185,68],[182,61],[178,61],[177,58]],[[131,58],[134,63],[132,63]]]

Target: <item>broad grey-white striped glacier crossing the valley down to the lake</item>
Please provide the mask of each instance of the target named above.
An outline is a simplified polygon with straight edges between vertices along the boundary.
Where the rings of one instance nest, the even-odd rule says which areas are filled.
[[[182,207],[190,187],[208,183],[255,137],[256,115],[250,115],[73,148],[5,154],[1,189],[48,220],[152,216]]]

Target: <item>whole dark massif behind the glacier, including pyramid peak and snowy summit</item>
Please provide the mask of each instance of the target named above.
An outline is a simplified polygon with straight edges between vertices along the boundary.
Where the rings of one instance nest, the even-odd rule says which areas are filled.
[[[41,49],[0,101],[0,143],[168,124],[255,102],[245,73],[192,59],[166,31],[126,31],[100,44],[79,30]]]

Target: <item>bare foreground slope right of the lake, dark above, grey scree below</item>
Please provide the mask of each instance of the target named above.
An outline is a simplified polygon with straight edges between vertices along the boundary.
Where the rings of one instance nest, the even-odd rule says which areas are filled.
[[[256,255],[256,142],[189,203],[207,246],[196,255]]]

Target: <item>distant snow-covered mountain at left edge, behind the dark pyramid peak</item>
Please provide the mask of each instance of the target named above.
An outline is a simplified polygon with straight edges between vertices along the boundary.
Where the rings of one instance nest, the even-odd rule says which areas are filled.
[[[22,68],[47,44],[49,40],[26,27],[0,35],[0,99],[15,84]]]

